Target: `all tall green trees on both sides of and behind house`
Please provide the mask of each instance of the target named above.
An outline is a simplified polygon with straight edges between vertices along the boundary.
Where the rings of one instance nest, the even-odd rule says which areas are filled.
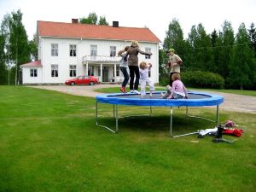
[[[90,13],[80,23],[105,25],[105,16]],[[256,90],[256,31],[252,23],[244,23],[235,32],[231,23],[224,21],[222,30],[207,34],[204,26],[192,26],[187,39],[177,19],[166,31],[163,49],[160,49],[160,81],[168,76],[165,63],[166,49],[173,48],[183,59],[183,72],[202,71],[218,73],[224,78],[226,89]],[[20,65],[38,60],[36,34],[28,40],[19,10],[4,15],[0,28],[0,84],[19,84]]]

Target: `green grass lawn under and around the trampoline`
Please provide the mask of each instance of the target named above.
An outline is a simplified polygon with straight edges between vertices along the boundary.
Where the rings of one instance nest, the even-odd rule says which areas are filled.
[[[256,115],[221,111],[242,137],[234,144],[169,137],[169,108],[119,119],[119,133],[96,126],[95,98],[24,86],[0,86],[0,191],[255,191]],[[114,127],[113,106],[99,104]],[[191,112],[214,118],[213,108]],[[148,108],[119,107],[120,115]],[[174,134],[212,128],[175,108]]]

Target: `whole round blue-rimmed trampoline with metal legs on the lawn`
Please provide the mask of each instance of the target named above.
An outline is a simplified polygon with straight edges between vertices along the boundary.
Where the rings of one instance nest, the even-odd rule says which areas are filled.
[[[149,93],[141,98],[140,95],[134,93],[114,93],[114,94],[103,94],[96,96],[96,125],[106,128],[108,131],[112,131],[113,133],[117,133],[119,131],[119,105],[128,105],[128,106],[148,106],[150,107],[150,116],[152,115],[152,107],[170,107],[170,135],[171,137],[182,137],[191,134],[195,134],[197,132],[186,133],[183,135],[174,136],[172,134],[172,115],[173,115],[173,107],[186,107],[186,115],[192,118],[200,118],[209,120],[216,123],[218,126],[218,105],[224,102],[224,97],[203,93],[203,92],[188,92],[188,99],[162,99],[161,98],[162,91],[155,91],[153,93],[153,97],[149,96]],[[113,104],[113,117],[115,119],[115,130],[109,128],[106,125],[100,125],[98,122],[98,102]],[[216,106],[216,119],[206,119],[199,116],[189,115],[189,107],[205,107],[205,106]],[[129,116],[131,117],[131,116]]]

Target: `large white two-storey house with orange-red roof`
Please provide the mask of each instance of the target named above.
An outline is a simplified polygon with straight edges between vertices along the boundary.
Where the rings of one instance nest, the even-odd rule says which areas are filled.
[[[148,28],[96,26],[38,21],[38,61],[21,65],[22,84],[64,84],[67,79],[93,75],[100,82],[122,82],[118,52],[137,40],[140,49],[153,55],[138,55],[139,62],[153,64],[150,72],[159,83],[160,40]]]

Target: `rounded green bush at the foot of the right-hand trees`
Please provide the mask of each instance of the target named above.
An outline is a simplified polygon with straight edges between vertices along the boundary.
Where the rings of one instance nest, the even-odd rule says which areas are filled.
[[[187,87],[224,89],[224,78],[218,73],[209,72],[183,72],[183,84]]]

